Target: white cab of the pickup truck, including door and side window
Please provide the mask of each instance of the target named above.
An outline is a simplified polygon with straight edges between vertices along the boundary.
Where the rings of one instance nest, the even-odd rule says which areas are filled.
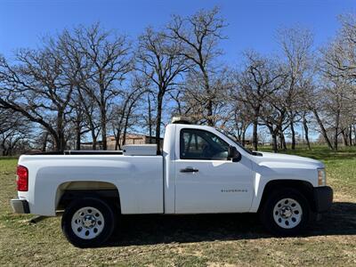
[[[165,212],[248,212],[255,172],[247,150],[236,146],[213,127],[168,125],[163,157],[165,189],[170,193],[165,194]],[[239,160],[229,157],[232,147]]]

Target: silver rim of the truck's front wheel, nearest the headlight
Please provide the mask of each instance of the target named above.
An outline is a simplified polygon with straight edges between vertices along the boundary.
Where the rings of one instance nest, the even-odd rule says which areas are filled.
[[[273,219],[279,227],[295,228],[302,221],[302,206],[293,198],[280,199],[273,208]]]

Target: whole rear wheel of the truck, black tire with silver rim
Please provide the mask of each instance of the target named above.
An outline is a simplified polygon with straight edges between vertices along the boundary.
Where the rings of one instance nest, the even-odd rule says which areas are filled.
[[[101,198],[80,198],[65,209],[61,229],[76,247],[99,247],[105,243],[116,224],[112,208]]]

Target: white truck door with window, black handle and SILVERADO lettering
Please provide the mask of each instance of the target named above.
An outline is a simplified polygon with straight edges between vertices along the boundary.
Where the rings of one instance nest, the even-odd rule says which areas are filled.
[[[177,134],[175,213],[247,212],[253,198],[249,159],[228,160],[229,144],[211,132],[183,128]]]

